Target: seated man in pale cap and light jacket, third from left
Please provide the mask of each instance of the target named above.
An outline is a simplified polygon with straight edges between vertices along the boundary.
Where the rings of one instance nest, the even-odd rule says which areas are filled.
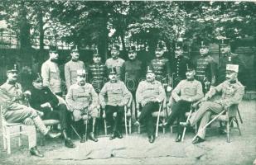
[[[82,134],[80,142],[85,143],[86,134],[89,134],[89,139],[97,142],[94,130],[99,109],[98,95],[94,91],[94,87],[85,82],[85,79],[85,69],[78,70],[77,82],[70,86],[65,100],[70,106],[70,111],[73,112],[75,124],[83,125],[82,128],[80,127]]]

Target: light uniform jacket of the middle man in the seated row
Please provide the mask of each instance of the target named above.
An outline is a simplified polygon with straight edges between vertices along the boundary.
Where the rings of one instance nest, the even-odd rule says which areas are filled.
[[[105,100],[106,97],[106,100]],[[99,92],[99,102],[101,105],[123,106],[128,105],[131,93],[122,81],[106,82]]]

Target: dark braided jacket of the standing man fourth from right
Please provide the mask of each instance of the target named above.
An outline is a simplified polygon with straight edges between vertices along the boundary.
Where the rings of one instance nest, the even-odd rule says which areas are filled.
[[[167,78],[167,74],[171,73],[169,59],[167,58],[162,57],[159,59],[152,59],[149,66],[153,68],[158,81],[162,81],[163,78]]]

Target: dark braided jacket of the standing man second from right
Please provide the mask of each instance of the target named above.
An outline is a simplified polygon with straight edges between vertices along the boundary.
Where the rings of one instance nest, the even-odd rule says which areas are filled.
[[[212,85],[215,84],[215,60],[210,56],[200,56],[196,61],[196,78],[200,82],[204,82],[204,78],[211,82]]]

